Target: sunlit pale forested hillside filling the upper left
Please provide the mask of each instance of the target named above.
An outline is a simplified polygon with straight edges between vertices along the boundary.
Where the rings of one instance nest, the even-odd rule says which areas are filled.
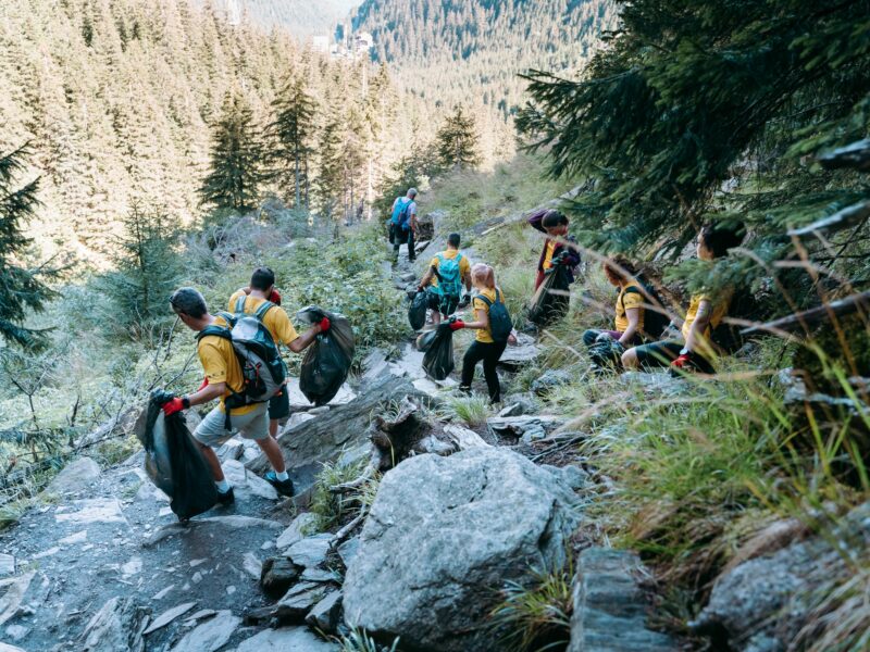
[[[313,208],[376,185],[381,166],[366,155],[377,149],[388,160],[396,148],[378,139],[410,131],[381,108],[391,92],[385,74],[371,71],[363,97],[364,64],[330,62],[284,32],[231,25],[189,0],[9,0],[0,43],[0,149],[30,143],[42,202],[32,230],[44,254],[103,260],[134,202],[189,223],[210,125],[229,96],[250,106],[259,137],[281,91],[301,79],[312,106],[302,136]],[[347,148],[357,153],[339,155]],[[319,185],[324,171],[334,180]]]

